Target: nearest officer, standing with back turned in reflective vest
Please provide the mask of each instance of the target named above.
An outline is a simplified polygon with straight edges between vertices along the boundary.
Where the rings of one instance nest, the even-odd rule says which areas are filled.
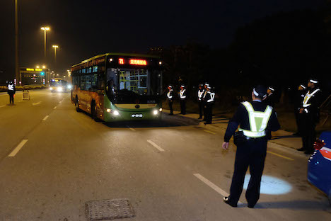
[[[239,132],[236,132],[236,161],[233,172],[230,196],[224,197],[224,203],[237,207],[245,174],[250,167],[250,182],[246,191],[248,207],[254,208],[260,198],[260,183],[265,156],[267,154],[266,130],[279,130],[280,125],[273,108],[262,102],[267,96],[265,86],[257,86],[252,91],[252,102],[245,101],[240,104],[233,118],[228,123],[224,135],[223,149],[228,149],[228,142],[240,125]]]

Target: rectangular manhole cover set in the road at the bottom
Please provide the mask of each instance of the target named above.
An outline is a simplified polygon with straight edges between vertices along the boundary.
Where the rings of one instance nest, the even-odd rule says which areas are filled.
[[[134,217],[134,210],[128,199],[88,201],[85,203],[85,212],[88,221]]]

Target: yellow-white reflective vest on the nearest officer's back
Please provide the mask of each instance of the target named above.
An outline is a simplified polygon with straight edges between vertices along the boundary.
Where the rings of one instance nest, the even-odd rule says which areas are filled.
[[[264,137],[265,128],[267,128],[269,118],[272,115],[272,107],[267,106],[265,111],[254,111],[252,104],[248,101],[242,103],[245,106],[250,121],[250,130],[239,128],[246,137]]]

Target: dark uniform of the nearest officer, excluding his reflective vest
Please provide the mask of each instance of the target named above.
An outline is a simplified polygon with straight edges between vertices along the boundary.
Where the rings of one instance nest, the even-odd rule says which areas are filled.
[[[271,107],[267,106],[267,104],[259,101],[246,101],[241,103],[238,107],[235,115],[233,115],[233,118],[228,123],[228,128],[224,135],[224,142],[229,142],[231,136],[234,135],[237,130],[238,125],[240,125],[240,130],[243,130],[244,135],[246,135],[245,132],[247,132],[248,135],[250,135],[250,133],[262,135],[260,137],[255,136],[255,138],[250,137],[254,135],[246,135],[245,137],[248,140],[238,144],[230,196],[226,201],[226,203],[231,206],[237,205],[241,192],[243,191],[245,174],[249,166],[251,177],[246,191],[246,199],[248,200],[248,206],[253,208],[260,198],[260,183],[265,166],[265,156],[267,154],[267,138],[265,137],[266,132],[259,132],[259,128],[257,128],[259,124],[256,124],[255,130],[257,130],[257,132],[252,132],[252,128],[250,128],[250,116],[244,104],[246,106],[251,105],[253,111],[260,114],[269,111],[269,120],[265,121],[265,130],[276,131],[279,130],[280,125],[276,113]],[[260,129],[262,129],[262,124]]]

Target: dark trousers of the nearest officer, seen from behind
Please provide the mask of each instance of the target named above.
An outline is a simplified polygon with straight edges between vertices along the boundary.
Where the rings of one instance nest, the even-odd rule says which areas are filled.
[[[265,156],[267,154],[267,140],[248,140],[243,145],[238,145],[236,152],[235,168],[230,188],[230,202],[236,205],[243,191],[245,174],[250,167],[250,182],[246,191],[248,205],[254,206],[260,198],[260,184]]]

